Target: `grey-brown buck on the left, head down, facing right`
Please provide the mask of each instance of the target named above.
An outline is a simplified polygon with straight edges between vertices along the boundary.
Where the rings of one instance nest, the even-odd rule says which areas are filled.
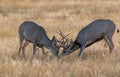
[[[20,47],[18,55],[25,57],[25,48],[29,43],[33,44],[33,57],[35,55],[36,46],[42,48],[44,54],[44,46],[48,48],[55,57],[58,57],[59,48],[56,46],[55,36],[50,40],[44,28],[32,21],[25,21],[19,26]],[[25,41],[25,42],[24,42]]]

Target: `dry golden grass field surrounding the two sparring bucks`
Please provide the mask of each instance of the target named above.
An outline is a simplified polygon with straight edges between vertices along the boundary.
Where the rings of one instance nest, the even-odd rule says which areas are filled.
[[[103,40],[86,48],[81,60],[79,50],[57,60],[45,49],[45,56],[37,51],[30,62],[32,44],[26,48],[26,59],[17,56],[18,27],[24,21],[42,25],[50,39],[59,38],[61,30],[74,40],[79,30],[96,19],[111,19],[120,27],[119,5],[120,0],[0,0],[0,77],[120,77],[117,33],[112,54]]]

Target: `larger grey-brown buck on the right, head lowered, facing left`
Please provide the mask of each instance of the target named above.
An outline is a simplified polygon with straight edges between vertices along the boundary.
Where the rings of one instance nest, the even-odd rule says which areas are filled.
[[[69,45],[69,48],[64,48],[60,56],[68,55],[80,48],[78,57],[82,56],[83,50],[90,45],[105,39],[109,46],[110,52],[113,51],[114,44],[112,36],[115,32],[116,25],[111,20],[98,19],[83,28],[77,35],[76,40]],[[119,33],[119,29],[117,28]]]

